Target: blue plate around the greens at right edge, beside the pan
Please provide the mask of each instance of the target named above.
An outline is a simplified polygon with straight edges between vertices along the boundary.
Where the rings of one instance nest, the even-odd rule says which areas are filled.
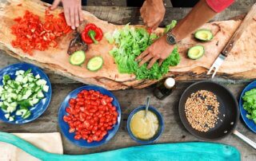
[[[242,94],[239,99],[239,108],[240,108],[242,120],[245,121],[247,127],[250,128],[251,131],[256,133],[256,124],[254,123],[253,120],[250,120],[246,117],[247,112],[242,106],[242,104],[243,104],[242,96],[245,95],[245,92],[250,91],[250,89],[253,89],[253,88],[256,88],[256,81],[251,82],[250,84],[248,84],[246,86],[246,88],[243,89]]]

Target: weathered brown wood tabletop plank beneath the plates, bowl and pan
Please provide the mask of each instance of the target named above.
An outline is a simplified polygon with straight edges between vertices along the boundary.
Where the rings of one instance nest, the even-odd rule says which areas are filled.
[[[38,120],[25,125],[12,125],[0,124],[0,129],[2,132],[60,132],[58,128],[58,108],[65,98],[65,96],[74,88],[78,88],[82,84],[53,84],[53,97],[50,103],[50,107],[46,112],[38,118]],[[117,135],[110,140],[109,143],[103,145],[102,147],[97,147],[93,149],[84,149],[76,147],[70,143],[66,138],[63,137],[64,149],[66,154],[87,154],[99,151],[110,151],[113,149],[118,149],[121,147],[136,146],[135,143],[128,132],[126,131],[126,120],[129,113],[141,104],[144,104],[144,100],[147,95],[152,96],[151,104],[158,108],[162,113],[165,120],[165,130],[158,140],[157,143],[176,143],[176,142],[187,142],[187,141],[201,141],[196,139],[193,135],[186,132],[183,127],[181,120],[178,116],[178,100],[182,95],[183,90],[188,87],[190,83],[182,83],[177,85],[177,89],[172,93],[171,96],[167,97],[166,100],[159,101],[154,96],[152,96],[152,88],[145,88],[141,90],[130,89],[126,91],[116,91],[114,95],[118,97],[118,100],[122,107],[122,123],[118,130]],[[242,88],[246,84],[226,84],[226,87],[230,88],[231,92],[238,98]],[[242,121],[238,123],[238,131],[242,132],[244,135],[250,137],[256,141],[255,134],[250,132],[246,128]],[[256,154],[254,150],[243,143],[242,140],[236,138],[234,135],[230,135],[225,139],[218,140],[218,143],[226,143],[237,147],[242,153],[243,160],[255,160]]]

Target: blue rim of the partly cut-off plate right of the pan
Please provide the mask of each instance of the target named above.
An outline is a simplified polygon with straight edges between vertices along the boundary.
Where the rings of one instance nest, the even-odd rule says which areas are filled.
[[[255,85],[254,85],[254,84],[255,84]],[[241,116],[242,116],[242,120],[245,122],[246,126],[247,126],[248,128],[250,128],[250,130],[251,130],[252,132],[256,133],[256,130],[255,130],[254,128],[252,128],[252,127],[250,126],[250,124],[248,123],[248,121],[252,121],[252,122],[253,122],[253,120],[249,120],[245,115],[242,114],[242,112],[246,112],[246,110],[243,108],[242,96],[244,96],[247,91],[250,91],[250,89],[253,89],[253,88],[250,88],[250,89],[249,89],[249,87],[250,87],[250,86],[253,86],[253,85],[254,85],[253,88],[256,88],[256,81],[250,82],[250,84],[247,84],[246,87],[242,89],[242,93],[241,93],[240,98],[239,98],[239,108],[240,108],[240,114],[241,114]],[[248,112],[246,112],[246,113],[248,113]],[[254,123],[254,122],[253,122],[253,123]],[[254,123],[254,124],[255,124],[255,123]],[[256,126],[256,124],[255,124],[255,126]]]

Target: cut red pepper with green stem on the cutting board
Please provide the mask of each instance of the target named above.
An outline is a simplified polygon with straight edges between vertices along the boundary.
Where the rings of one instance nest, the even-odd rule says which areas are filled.
[[[92,43],[98,44],[98,41],[101,41],[102,37],[102,29],[98,28],[92,23],[86,25],[84,31],[82,32],[82,41],[85,41],[88,45]]]

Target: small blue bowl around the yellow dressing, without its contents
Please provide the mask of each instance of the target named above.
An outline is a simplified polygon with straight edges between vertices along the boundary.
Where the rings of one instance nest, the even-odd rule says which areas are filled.
[[[158,112],[158,110],[152,106],[149,107],[149,111],[150,112],[154,112],[154,114],[158,117],[158,122],[159,122],[159,127],[158,127],[158,132],[154,135],[153,138],[151,139],[138,139],[134,134],[133,132],[131,132],[130,130],[130,120],[132,119],[132,117],[134,116],[135,113],[141,111],[141,110],[145,110],[145,105],[142,105],[138,108],[135,108],[133,112],[130,113],[129,117],[128,117],[128,120],[127,120],[127,130],[128,130],[128,133],[130,135],[130,137],[132,139],[134,139],[136,142],[138,143],[142,143],[142,144],[149,144],[149,143],[153,143],[154,141],[156,141],[160,135],[162,135],[162,132],[164,130],[164,122],[163,122],[163,117],[161,115],[160,112]]]

